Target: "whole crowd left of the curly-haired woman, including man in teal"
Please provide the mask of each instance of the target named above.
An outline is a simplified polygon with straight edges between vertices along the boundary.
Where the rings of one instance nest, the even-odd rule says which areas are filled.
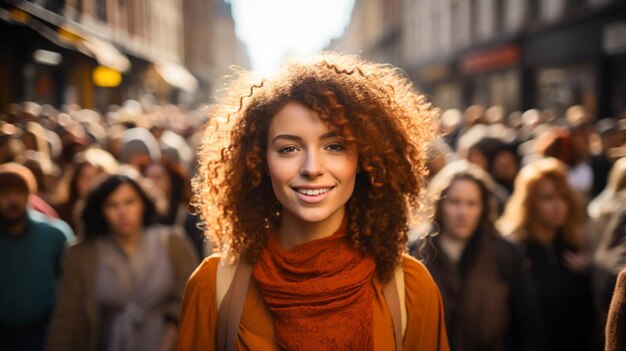
[[[185,283],[211,251],[189,211],[203,122],[199,111],[145,101],[104,115],[9,106],[0,348],[173,348]]]

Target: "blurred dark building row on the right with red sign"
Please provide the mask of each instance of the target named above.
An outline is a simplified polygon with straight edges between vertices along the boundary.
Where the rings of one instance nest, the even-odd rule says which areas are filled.
[[[375,1],[356,1],[353,21],[368,22],[355,18],[368,2]],[[398,7],[397,47],[372,47],[372,38],[352,35],[352,23],[336,42],[404,68],[438,106],[561,114],[582,104],[600,118],[626,111],[626,1],[400,0]]]

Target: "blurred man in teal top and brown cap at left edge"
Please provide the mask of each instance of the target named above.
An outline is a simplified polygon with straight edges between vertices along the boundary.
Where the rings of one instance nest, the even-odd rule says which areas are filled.
[[[2,350],[43,350],[57,297],[56,281],[67,237],[50,221],[29,211],[33,184],[35,177],[26,167],[0,165]]]

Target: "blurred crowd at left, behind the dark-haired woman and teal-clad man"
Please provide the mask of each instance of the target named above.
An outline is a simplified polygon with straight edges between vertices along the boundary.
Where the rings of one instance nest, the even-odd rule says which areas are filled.
[[[10,105],[1,118],[0,163],[31,170],[37,182],[34,208],[78,234],[88,190],[102,175],[141,176],[150,183],[158,221],[188,228],[204,256],[196,217],[188,214],[194,150],[206,122],[202,111],[134,100],[104,115],[78,106],[63,111],[27,102]]]

